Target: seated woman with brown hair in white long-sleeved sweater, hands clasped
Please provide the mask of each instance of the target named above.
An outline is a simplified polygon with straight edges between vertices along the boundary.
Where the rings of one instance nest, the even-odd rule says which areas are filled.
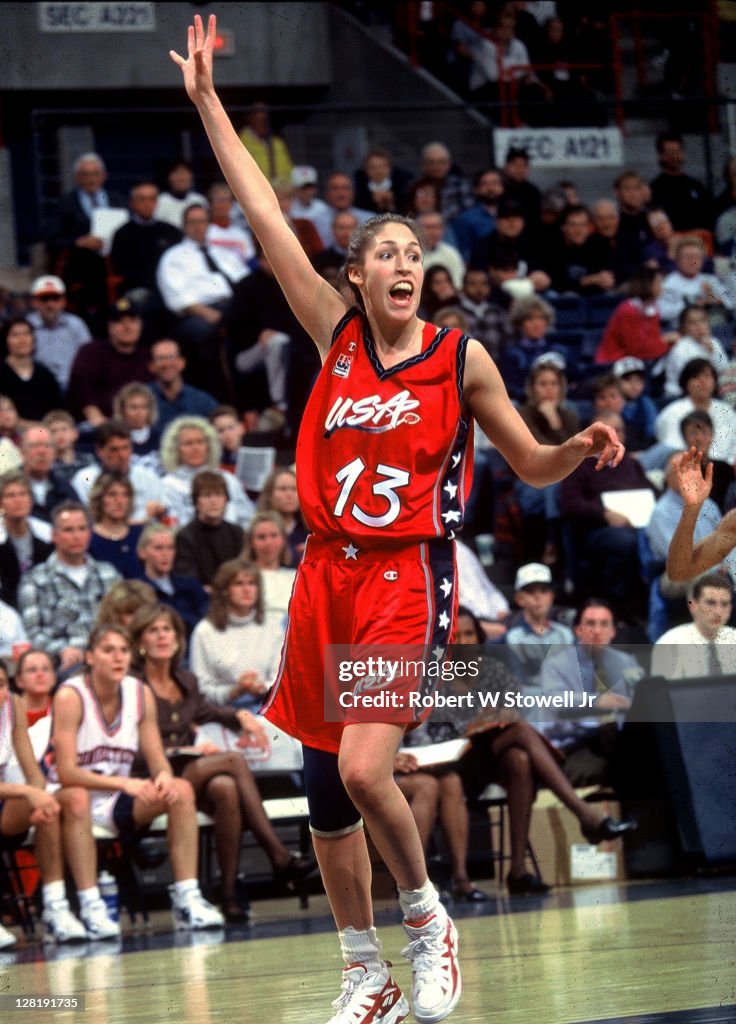
[[[284,631],[263,610],[261,577],[243,558],[223,562],[205,618],[191,634],[189,662],[213,703],[258,711],[275,679]]]

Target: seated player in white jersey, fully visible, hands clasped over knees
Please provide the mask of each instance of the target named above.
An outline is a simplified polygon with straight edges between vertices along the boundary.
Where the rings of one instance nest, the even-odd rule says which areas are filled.
[[[200,892],[197,881],[197,809],[188,782],[174,778],[161,739],[156,702],[147,686],[128,674],[130,637],[119,626],[97,626],[85,652],[86,671],[68,680],[53,700],[53,759],[49,779],[59,782],[64,837],[75,859],[85,865],[77,880],[81,913],[96,902],[97,857],[93,824],[118,833],[144,829],[168,816],[167,839],[174,872],[170,886],[177,929],[219,928],[220,911]],[[140,752],[149,778],[131,778]],[[102,920],[110,931],[115,922]]]

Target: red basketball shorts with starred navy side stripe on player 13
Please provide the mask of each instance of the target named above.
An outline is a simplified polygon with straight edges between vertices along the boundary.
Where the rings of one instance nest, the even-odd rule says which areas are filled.
[[[349,722],[417,724],[431,707],[418,707],[410,693],[431,694],[438,676],[418,672],[413,656],[425,651],[435,662],[442,658],[453,634],[457,606],[451,542],[376,550],[310,537],[289,605],[282,665],[263,714],[307,746],[333,753],[339,751]],[[396,696],[376,701],[363,695],[354,698],[355,706],[350,697],[347,703],[338,700],[345,689],[338,671],[347,670],[338,670],[332,646],[337,644],[341,657],[347,653],[353,665],[369,666],[355,685],[360,693]],[[393,656],[393,674],[389,668],[388,676],[384,672],[376,679],[367,658],[376,662],[382,653]],[[375,706],[383,699],[388,701],[383,711],[372,707],[366,712],[365,702]]]

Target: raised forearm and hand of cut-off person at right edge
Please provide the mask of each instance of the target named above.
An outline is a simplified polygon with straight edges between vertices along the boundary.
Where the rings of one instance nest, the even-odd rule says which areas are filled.
[[[736,510],[727,513],[712,534],[697,544],[693,543],[695,524],[710,494],[713,477],[712,464],[705,467],[703,476],[701,462],[702,454],[694,447],[673,459],[678,490],[685,505],[667,552],[667,575],[670,580],[693,580],[720,565],[736,548]]]

